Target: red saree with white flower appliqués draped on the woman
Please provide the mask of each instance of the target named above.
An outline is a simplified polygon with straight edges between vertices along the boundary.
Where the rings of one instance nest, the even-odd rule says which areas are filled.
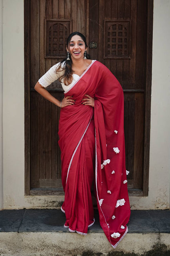
[[[94,108],[82,105],[85,94]],[[66,215],[65,227],[86,235],[94,223],[91,187],[100,224],[115,248],[128,231],[130,218],[123,129],[123,90],[114,75],[98,61],[92,62],[65,92],[73,106],[60,112],[59,146]]]

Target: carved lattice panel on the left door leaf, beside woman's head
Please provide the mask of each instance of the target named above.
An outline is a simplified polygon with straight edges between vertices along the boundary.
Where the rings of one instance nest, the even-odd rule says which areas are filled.
[[[66,42],[70,34],[71,21],[46,20],[45,21],[45,57],[64,58],[66,56]]]

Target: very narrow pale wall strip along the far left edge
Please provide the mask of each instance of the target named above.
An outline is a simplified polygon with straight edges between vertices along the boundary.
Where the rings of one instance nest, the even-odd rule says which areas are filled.
[[[2,44],[3,2],[0,0],[0,210],[3,208],[3,44]]]

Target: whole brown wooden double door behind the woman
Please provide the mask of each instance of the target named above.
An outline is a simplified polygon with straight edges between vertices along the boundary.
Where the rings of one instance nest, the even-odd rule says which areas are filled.
[[[30,169],[31,194],[38,191],[55,194],[62,190],[57,144],[60,110],[42,98],[34,85],[52,65],[63,59],[67,36],[74,31],[85,34],[91,58],[105,64],[123,87],[126,167],[130,171],[128,187],[134,194],[147,194],[149,141],[147,144],[145,141],[149,139],[150,129],[147,75],[151,75],[147,73],[147,32],[149,13],[153,11],[149,2],[152,1],[25,0],[25,15],[27,9],[30,10],[30,19],[25,18],[25,30],[29,30],[30,38],[30,75],[27,72],[29,82],[25,83],[30,87],[26,96],[28,107],[27,98],[30,97],[30,166],[26,163],[26,176]],[[150,30],[152,35],[152,22]],[[28,46],[27,42],[25,44]],[[151,50],[150,46],[150,55]],[[58,99],[63,97],[58,82],[52,83],[47,90]],[[26,186],[26,194],[29,194],[28,183]]]

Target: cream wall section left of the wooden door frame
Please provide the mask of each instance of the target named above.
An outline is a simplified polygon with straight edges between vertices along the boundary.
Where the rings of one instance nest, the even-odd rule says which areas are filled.
[[[4,208],[24,198],[24,1],[3,0]]]

